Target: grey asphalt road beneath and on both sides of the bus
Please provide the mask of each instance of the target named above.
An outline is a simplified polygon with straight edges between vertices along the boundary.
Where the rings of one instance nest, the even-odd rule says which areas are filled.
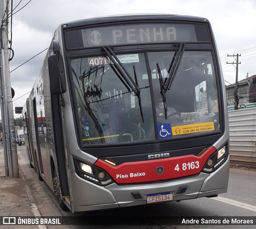
[[[214,198],[198,198],[180,202],[157,203],[123,209],[93,211],[72,214],[62,211],[54,193],[44,181],[38,181],[36,170],[29,167],[24,146],[17,146],[22,171],[31,179],[30,191],[42,216],[79,217],[81,225],[46,226],[47,228],[255,228],[255,225],[169,225],[179,217],[240,217],[247,216],[256,221],[256,171],[230,169],[228,193]],[[254,218],[250,218],[254,217]],[[106,221],[106,223],[104,223]],[[100,225],[86,225],[100,224]],[[111,223],[113,222],[113,223]],[[78,224],[78,222],[76,222]],[[122,225],[121,225],[122,224]],[[159,225],[155,225],[159,224]]]

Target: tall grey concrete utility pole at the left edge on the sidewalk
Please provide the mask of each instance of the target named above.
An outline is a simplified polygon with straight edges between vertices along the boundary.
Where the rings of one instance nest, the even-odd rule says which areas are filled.
[[[8,169],[9,175],[12,178],[19,178],[18,168],[18,155],[16,146],[15,124],[12,106],[12,90],[9,68],[9,56],[8,56],[8,3],[9,1],[0,0],[0,12],[1,12],[1,40],[0,40],[0,66],[1,66],[1,82],[4,89],[4,115],[6,131],[6,148],[8,153]],[[3,112],[1,110],[1,112]],[[5,143],[5,142],[4,142]]]

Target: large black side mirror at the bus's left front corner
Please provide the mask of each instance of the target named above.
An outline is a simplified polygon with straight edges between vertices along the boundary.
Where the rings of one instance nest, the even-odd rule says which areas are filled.
[[[57,56],[58,55],[58,58]],[[58,64],[57,64],[58,59]],[[61,94],[66,92],[66,80],[64,74],[64,64],[62,56],[56,53],[48,58],[48,70],[50,78],[50,88],[52,94]],[[58,77],[58,72],[60,77]]]

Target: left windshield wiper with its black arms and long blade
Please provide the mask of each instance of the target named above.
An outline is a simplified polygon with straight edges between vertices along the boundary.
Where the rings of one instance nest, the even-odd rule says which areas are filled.
[[[117,72],[119,73],[119,74],[117,74],[118,78],[123,82],[123,84],[129,90],[129,92],[131,92],[131,90],[130,90],[130,88],[131,88],[132,91],[134,92],[134,94],[138,97],[138,102],[139,102],[139,106],[140,106],[140,114],[142,117],[142,122],[144,122],[141,98],[140,98],[140,88],[138,86],[138,79],[137,79],[137,74],[135,71],[135,66],[134,66],[134,77],[135,77],[136,82],[134,82],[134,80],[132,79],[130,74],[127,72],[126,68],[124,68],[124,65],[120,62],[120,60],[118,59],[116,54],[114,54],[113,50],[110,47],[102,47],[102,50],[107,54],[107,56],[113,62]]]

